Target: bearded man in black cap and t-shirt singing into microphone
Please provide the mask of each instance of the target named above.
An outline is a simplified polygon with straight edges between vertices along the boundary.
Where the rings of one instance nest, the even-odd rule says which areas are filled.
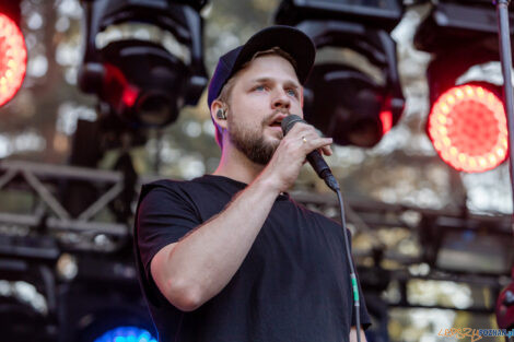
[[[312,40],[288,26],[222,56],[208,94],[220,165],[143,187],[136,252],[160,341],[357,340],[341,225],[285,192],[307,153],[331,154],[314,127],[285,137],[280,127],[303,117],[314,58]],[[363,300],[361,322],[370,325]]]

